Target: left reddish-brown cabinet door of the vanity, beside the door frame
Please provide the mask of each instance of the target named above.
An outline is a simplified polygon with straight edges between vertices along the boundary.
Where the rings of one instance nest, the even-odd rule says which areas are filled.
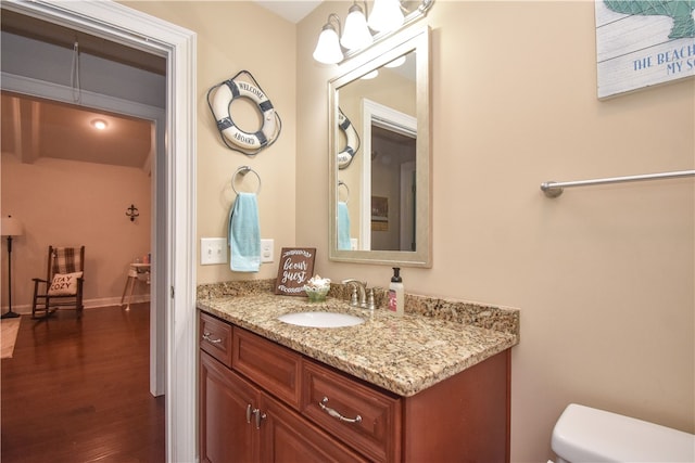
[[[201,462],[257,461],[258,433],[251,417],[257,404],[258,393],[251,384],[200,352]]]

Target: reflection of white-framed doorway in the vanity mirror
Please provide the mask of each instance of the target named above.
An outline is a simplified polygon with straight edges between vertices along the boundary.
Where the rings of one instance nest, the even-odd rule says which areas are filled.
[[[417,119],[363,100],[361,243],[370,250],[416,250]]]

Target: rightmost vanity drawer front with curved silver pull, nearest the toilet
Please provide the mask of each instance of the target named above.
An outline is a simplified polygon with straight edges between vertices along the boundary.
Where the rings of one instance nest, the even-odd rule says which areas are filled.
[[[399,397],[309,361],[302,382],[302,414],[369,460],[401,461]]]

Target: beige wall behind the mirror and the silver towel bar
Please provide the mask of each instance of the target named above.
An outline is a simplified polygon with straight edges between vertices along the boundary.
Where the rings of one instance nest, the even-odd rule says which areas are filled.
[[[330,3],[330,2],[329,2]],[[391,269],[330,262],[326,80],[298,29],[296,242],[333,280]],[[437,1],[432,28],[433,267],[406,292],[521,309],[514,462],[553,456],[569,402],[695,432],[692,179],[566,191],[579,180],[695,165],[695,80],[596,99],[594,3]]]

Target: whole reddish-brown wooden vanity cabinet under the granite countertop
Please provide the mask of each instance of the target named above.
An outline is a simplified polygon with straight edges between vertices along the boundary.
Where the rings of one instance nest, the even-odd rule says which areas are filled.
[[[215,323],[231,360],[201,337],[202,462],[509,462],[509,349],[400,397],[201,313]]]

